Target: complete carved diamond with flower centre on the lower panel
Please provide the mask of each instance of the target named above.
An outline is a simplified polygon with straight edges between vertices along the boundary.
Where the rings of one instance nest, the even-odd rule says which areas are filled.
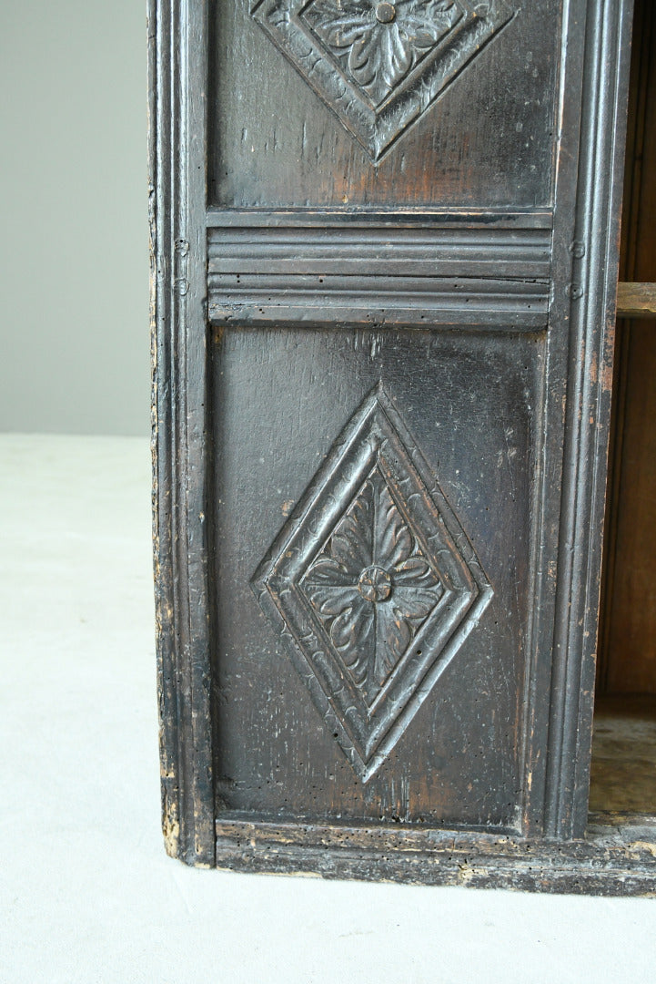
[[[380,387],[252,586],[362,781],[389,756],[492,597],[463,526]]]

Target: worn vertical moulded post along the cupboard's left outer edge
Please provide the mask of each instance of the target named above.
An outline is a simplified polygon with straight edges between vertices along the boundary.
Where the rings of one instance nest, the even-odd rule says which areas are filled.
[[[190,159],[202,152],[191,84],[203,57],[198,30],[205,0],[148,0],[149,222],[151,257],[153,554],[160,721],[162,830],[169,854],[213,865],[213,788],[206,549],[203,397],[204,283],[188,261],[193,182],[204,180]],[[193,32],[195,31],[195,35]],[[195,58],[195,62],[193,59]],[[195,96],[197,99],[197,96]],[[204,131],[203,131],[204,132]],[[202,144],[202,141],[201,141]],[[190,177],[191,175],[191,177]],[[204,203],[200,224],[204,228]],[[204,235],[196,235],[204,244]],[[188,279],[189,277],[189,279]],[[204,280],[204,273],[202,276]],[[191,339],[191,341],[190,341]],[[199,402],[199,405],[198,405]],[[200,422],[199,422],[200,421]],[[199,506],[202,503],[203,506]],[[205,624],[202,624],[204,621]]]

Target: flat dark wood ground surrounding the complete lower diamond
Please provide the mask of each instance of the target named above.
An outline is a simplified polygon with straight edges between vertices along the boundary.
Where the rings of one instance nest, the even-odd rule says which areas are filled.
[[[315,819],[399,817],[516,828],[544,337],[226,329],[214,367],[213,652],[222,806],[270,816],[293,816],[301,808]],[[334,442],[346,440],[340,437],[345,425],[381,380],[437,476],[464,529],[461,544],[466,535],[492,596],[468,635],[454,640],[455,651],[401,737],[362,782],[340,747],[338,724],[331,723],[339,713],[322,719],[317,712],[311,669],[301,673],[290,658],[296,648],[287,638],[291,629],[281,633],[278,620],[259,611],[251,582]],[[406,446],[410,437],[403,439]],[[407,508],[404,489],[410,500],[416,492],[403,481],[395,487]],[[337,517],[353,498],[340,488],[328,490]],[[317,523],[311,516],[310,554],[325,537]],[[424,518],[419,529],[427,528]],[[387,551],[386,566],[394,548]],[[348,557],[343,562],[348,565]],[[438,564],[448,571],[443,557]],[[288,625],[293,628],[291,616]],[[425,646],[421,637],[416,641]],[[408,686],[402,678],[402,691]]]

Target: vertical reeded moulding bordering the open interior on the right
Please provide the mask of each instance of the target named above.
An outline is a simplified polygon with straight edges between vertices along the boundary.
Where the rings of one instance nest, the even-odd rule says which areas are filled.
[[[545,834],[565,841],[587,823],[631,10],[588,0],[585,20],[545,797]]]

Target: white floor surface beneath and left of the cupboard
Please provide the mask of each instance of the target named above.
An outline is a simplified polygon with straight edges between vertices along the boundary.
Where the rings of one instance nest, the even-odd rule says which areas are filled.
[[[0,981],[653,981],[656,900],[165,855],[149,467],[138,438],[0,435]]]

